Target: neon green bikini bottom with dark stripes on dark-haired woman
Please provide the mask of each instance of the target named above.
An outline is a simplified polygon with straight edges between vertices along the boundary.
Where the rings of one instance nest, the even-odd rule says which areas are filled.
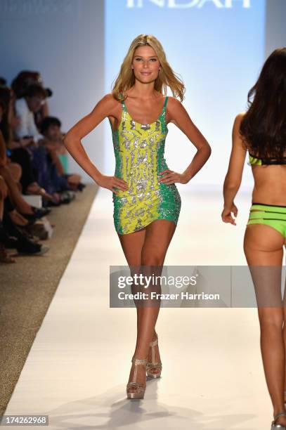
[[[286,237],[286,206],[276,206],[263,203],[253,203],[250,208],[249,224],[265,224],[275,228]]]

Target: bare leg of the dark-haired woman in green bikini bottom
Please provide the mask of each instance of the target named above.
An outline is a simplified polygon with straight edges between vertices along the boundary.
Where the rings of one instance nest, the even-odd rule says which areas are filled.
[[[252,278],[256,297],[264,304],[263,307],[258,306],[261,353],[274,415],[284,411],[285,344],[282,329],[284,311],[279,276],[284,245],[284,237],[274,228],[261,224],[247,226],[245,256],[249,266],[259,266],[257,272],[259,282],[256,282],[255,276]],[[268,303],[271,305],[267,306]],[[277,424],[285,425],[286,417],[280,417]]]

